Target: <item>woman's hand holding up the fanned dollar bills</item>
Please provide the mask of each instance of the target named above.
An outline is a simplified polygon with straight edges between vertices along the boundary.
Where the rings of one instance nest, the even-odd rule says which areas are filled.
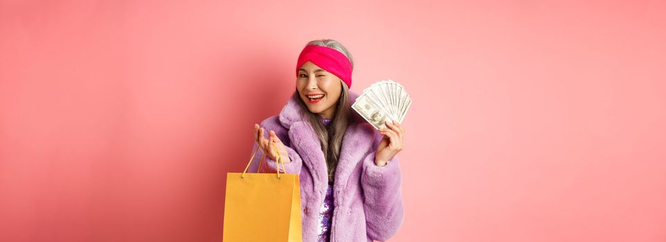
[[[398,122],[386,122],[385,124],[389,129],[379,130],[384,138],[377,146],[377,152],[375,153],[375,165],[380,167],[385,166],[396,153],[403,150],[403,138],[405,136],[405,129]]]

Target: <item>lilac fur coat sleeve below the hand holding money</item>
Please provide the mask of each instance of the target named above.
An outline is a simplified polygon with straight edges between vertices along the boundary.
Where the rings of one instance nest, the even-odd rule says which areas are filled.
[[[379,135],[378,140],[381,138]],[[375,164],[377,144],[363,160],[361,185],[365,194],[367,235],[370,239],[385,241],[398,232],[403,222],[401,172],[397,155],[383,167]]]

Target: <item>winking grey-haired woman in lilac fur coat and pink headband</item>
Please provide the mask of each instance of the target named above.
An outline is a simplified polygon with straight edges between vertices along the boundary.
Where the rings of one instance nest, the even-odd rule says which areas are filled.
[[[259,145],[267,155],[260,172],[276,172],[280,156],[286,173],[299,174],[303,241],[385,241],[403,221],[396,153],[405,131],[397,123],[376,131],[351,111],[358,97],[349,91],[352,68],[338,41],[310,41],[292,98],[279,115],[254,124],[252,150]],[[252,165],[255,171],[258,160]]]

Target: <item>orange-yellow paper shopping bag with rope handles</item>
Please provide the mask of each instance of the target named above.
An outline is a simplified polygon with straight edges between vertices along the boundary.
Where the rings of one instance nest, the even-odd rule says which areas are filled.
[[[277,151],[274,144],[272,147]],[[279,169],[277,174],[247,173],[258,149],[257,145],[243,173],[227,173],[222,241],[301,241],[298,175]],[[263,153],[259,168],[265,156]],[[286,171],[280,156],[277,162]]]

